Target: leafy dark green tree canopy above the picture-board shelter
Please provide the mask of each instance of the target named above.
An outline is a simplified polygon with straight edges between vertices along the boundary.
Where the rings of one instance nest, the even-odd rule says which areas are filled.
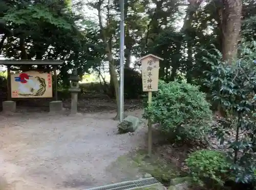
[[[100,63],[104,47],[99,42],[96,24],[90,24],[70,1],[2,1],[0,51],[6,58],[60,59],[58,81],[69,86],[69,70],[82,75]],[[81,5],[79,5],[81,7]],[[10,35],[8,33],[12,31]],[[7,31],[7,32],[6,32]],[[40,66],[40,69],[48,66]],[[23,69],[30,69],[25,68]]]

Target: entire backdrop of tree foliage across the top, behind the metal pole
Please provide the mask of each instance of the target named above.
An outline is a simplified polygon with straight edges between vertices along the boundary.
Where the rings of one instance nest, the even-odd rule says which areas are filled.
[[[96,8],[102,1],[89,2]],[[149,6],[150,1],[128,0],[124,6],[127,29],[124,40],[125,66],[130,65],[131,56],[138,58],[153,53],[164,59],[160,61],[159,78],[169,82],[182,73],[188,83],[202,86],[202,78],[205,78],[203,71],[208,66],[201,59],[204,53],[201,47],[209,49],[213,43],[221,49],[219,13],[223,5],[217,1],[207,1],[205,6],[200,6],[199,2],[195,5],[187,3],[184,7],[183,1],[166,0],[155,2],[156,7],[152,7]],[[65,64],[58,67],[59,82],[67,87],[70,69],[77,68],[82,75],[108,59],[98,21],[92,21],[94,16],[93,19],[83,16],[81,3],[75,1],[71,4],[71,0],[0,1],[0,33],[3,34],[0,37],[3,43],[0,43],[0,51],[5,57],[14,59],[64,60]],[[256,29],[255,3],[253,0],[243,0],[243,4],[245,20],[242,34],[249,39],[254,36]],[[119,38],[119,1],[108,2],[101,8],[106,18],[103,19],[105,37],[114,61],[118,62],[119,41],[116,39]],[[186,22],[181,26],[182,30],[177,30],[176,23],[183,17]],[[138,73],[134,75],[136,80],[138,76],[139,81]],[[125,75],[125,83],[128,84],[125,84],[125,98],[140,96],[141,86],[133,88],[131,83],[135,86],[139,83],[132,80],[129,74]],[[200,90],[209,93],[208,89]]]

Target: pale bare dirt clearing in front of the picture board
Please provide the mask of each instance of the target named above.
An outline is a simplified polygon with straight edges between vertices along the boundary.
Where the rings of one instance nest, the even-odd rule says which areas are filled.
[[[18,190],[85,189],[137,178],[106,171],[119,156],[145,144],[146,128],[117,135],[114,116],[0,115],[0,174]]]

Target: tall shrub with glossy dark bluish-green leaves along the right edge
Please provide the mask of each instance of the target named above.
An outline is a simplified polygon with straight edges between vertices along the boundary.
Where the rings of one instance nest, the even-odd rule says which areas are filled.
[[[206,72],[206,85],[212,89],[212,99],[229,116],[215,130],[221,142],[229,145],[228,157],[233,162],[230,169],[236,182],[251,183],[256,166],[256,42],[242,43],[239,52],[239,59],[232,64],[221,62],[220,52],[218,56],[208,53],[204,60],[211,70]],[[229,132],[232,129],[236,131],[234,140]]]

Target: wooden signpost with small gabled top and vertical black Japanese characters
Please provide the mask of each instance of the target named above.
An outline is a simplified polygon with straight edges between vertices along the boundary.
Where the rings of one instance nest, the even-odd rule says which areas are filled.
[[[142,88],[143,92],[148,92],[148,106],[152,103],[152,92],[158,91],[158,75],[159,75],[159,60],[162,58],[149,54],[140,58]],[[148,119],[148,156],[152,155],[152,122]]]

